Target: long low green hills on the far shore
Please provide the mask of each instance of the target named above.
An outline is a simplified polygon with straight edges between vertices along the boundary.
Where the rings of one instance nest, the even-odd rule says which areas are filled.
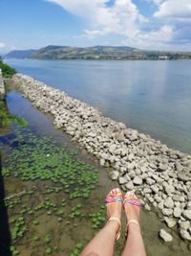
[[[12,51],[6,58],[37,59],[191,59],[191,53],[145,51],[128,46],[71,47],[49,45],[39,50]]]

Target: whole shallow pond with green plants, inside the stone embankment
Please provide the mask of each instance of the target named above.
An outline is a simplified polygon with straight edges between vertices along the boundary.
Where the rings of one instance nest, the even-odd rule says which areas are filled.
[[[0,138],[5,198],[11,197],[5,201],[12,251],[2,255],[79,255],[105,223],[103,200],[117,183],[108,178],[109,170],[100,168],[94,157],[55,130],[51,117],[18,93],[11,92],[7,98],[10,111],[24,117],[29,127],[14,125]],[[124,226],[123,218],[116,256],[125,242]],[[141,211],[141,226],[148,256],[190,254],[175,233],[172,244],[159,241],[159,229],[166,227],[154,212]]]

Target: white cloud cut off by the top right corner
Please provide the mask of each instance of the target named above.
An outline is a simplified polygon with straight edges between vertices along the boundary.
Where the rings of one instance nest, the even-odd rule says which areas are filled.
[[[159,5],[159,11],[154,13],[155,17],[191,17],[190,0],[165,0]]]

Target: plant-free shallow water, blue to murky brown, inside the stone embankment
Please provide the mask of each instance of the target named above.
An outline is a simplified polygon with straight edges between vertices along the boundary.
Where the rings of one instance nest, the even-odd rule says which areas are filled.
[[[51,234],[51,242],[48,246],[53,248],[52,255],[61,256],[61,255],[70,255],[71,251],[74,249],[76,243],[82,242],[86,244],[89,241],[94,233],[95,230],[92,228],[92,222],[88,217],[89,213],[97,213],[100,210],[100,206],[103,205],[103,200],[108,193],[108,191],[117,185],[116,182],[112,182],[108,178],[108,171],[107,169],[100,168],[96,160],[91,157],[90,154],[87,154],[86,151],[80,149],[77,145],[70,141],[70,138],[60,130],[55,130],[52,125],[52,118],[47,117],[35,108],[32,107],[29,101],[23,99],[20,94],[11,92],[8,94],[8,106],[12,113],[19,114],[20,116],[26,118],[29,122],[30,126],[27,129],[23,128],[15,128],[13,126],[11,128],[10,134],[14,135],[15,132],[18,130],[25,132],[27,134],[31,134],[30,136],[38,136],[39,139],[42,137],[51,138],[53,143],[56,143],[58,147],[60,145],[67,145],[67,151],[71,151],[76,149],[77,150],[77,158],[83,160],[85,163],[96,166],[98,170],[98,183],[96,185],[96,189],[91,192],[90,198],[75,198],[70,199],[68,194],[65,193],[64,190],[61,190],[58,193],[51,193],[44,195],[43,192],[45,190],[45,184],[49,185],[49,187],[53,187],[53,184],[50,181],[42,181],[42,180],[22,180],[18,177],[4,177],[4,185],[6,191],[6,197],[14,195],[15,193],[19,193],[25,189],[32,188],[35,185],[35,191],[31,195],[24,195],[21,197],[21,202],[16,204],[16,208],[13,210],[9,208],[9,222],[11,228],[11,219],[17,216],[16,210],[22,208],[22,205],[27,207],[33,207],[37,202],[46,199],[47,197],[50,198],[51,201],[56,203],[57,205],[60,203],[62,198],[66,199],[66,206],[65,206],[65,213],[64,218],[62,221],[58,221],[58,217],[54,214],[49,215],[47,210],[41,211],[39,214],[35,215],[26,215],[26,222],[29,227],[29,231],[25,233],[25,235],[19,239],[16,244],[16,249],[20,251],[19,255],[22,256],[41,256],[47,255],[45,250],[47,248],[47,244],[44,242],[44,238],[46,234]],[[28,131],[30,129],[30,131]],[[17,130],[17,131],[16,131]],[[7,137],[8,145],[9,138]],[[1,142],[5,136],[1,136]],[[14,148],[17,146],[15,142],[13,142]],[[5,144],[5,140],[4,140]],[[25,144],[23,144],[25,146]],[[32,146],[33,149],[34,146]],[[9,148],[9,147],[8,147]],[[6,148],[4,147],[5,151]],[[8,152],[4,156],[4,161],[8,158]],[[30,159],[30,152],[29,159]],[[12,198],[11,201],[14,201],[17,198]],[[82,204],[81,211],[84,213],[84,217],[76,217],[70,221],[68,215],[71,213],[72,208],[76,205],[76,202],[80,202]],[[102,216],[105,210],[103,210]],[[188,244],[183,243],[180,239],[176,236],[173,230],[169,230],[165,227],[164,223],[157,217],[157,213],[154,212],[141,212],[141,225],[142,225],[142,233],[144,242],[146,245],[148,256],[155,255],[175,255],[175,256],[188,256],[190,255],[190,251],[188,250]],[[33,224],[32,221],[36,220],[39,221],[39,224]],[[68,223],[67,221],[70,221]],[[122,234],[124,234],[124,225],[125,220],[123,216],[123,229]],[[158,238],[158,232],[160,228],[165,228],[169,232],[172,233],[174,237],[174,241],[171,244],[163,244],[160,242]],[[38,235],[39,241],[34,242],[33,238],[35,235]],[[122,250],[122,246],[124,244],[124,236],[121,236],[121,240],[117,243],[116,246],[116,253],[115,255],[120,255]],[[9,254],[7,254],[9,255]],[[7,256],[5,255],[5,256]]]

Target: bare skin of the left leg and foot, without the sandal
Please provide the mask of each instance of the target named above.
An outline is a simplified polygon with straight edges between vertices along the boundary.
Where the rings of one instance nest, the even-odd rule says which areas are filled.
[[[116,192],[113,191],[113,194],[115,197]],[[107,203],[108,218],[115,217],[120,220],[121,207],[120,201]],[[118,229],[119,223],[117,221],[108,221],[96,237],[86,245],[81,256],[112,256]]]

